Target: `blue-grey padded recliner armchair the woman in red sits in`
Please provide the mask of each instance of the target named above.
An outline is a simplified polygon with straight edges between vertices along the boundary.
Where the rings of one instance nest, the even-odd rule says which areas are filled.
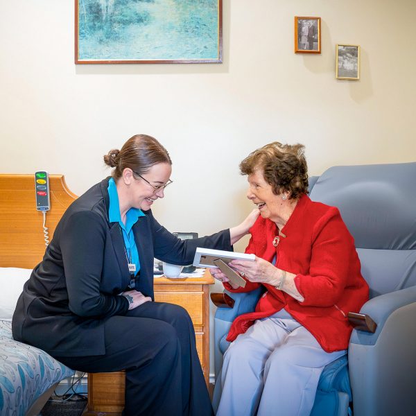
[[[361,313],[376,322],[374,333],[354,329],[348,357],[325,367],[311,415],[415,415],[416,162],[335,166],[311,177],[309,191],[312,200],[338,207],[354,236],[370,286]],[[228,295],[234,307],[218,308],[214,319],[217,380],[229,327],[254,309],[261,290]],[[214,410],[220,393],[216,383]]]

